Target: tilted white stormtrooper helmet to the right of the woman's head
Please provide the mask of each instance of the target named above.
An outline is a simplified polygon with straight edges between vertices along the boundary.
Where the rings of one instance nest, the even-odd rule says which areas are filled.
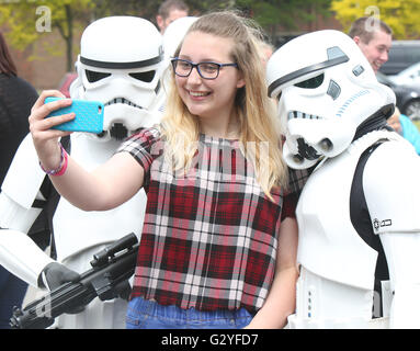
[[[283,45],[268,63],[266,80],[269,95],[279,100],[283,155],[295,169],[341,154],[362,123],[394,111],[394,92],[339,31],[304,34]]]

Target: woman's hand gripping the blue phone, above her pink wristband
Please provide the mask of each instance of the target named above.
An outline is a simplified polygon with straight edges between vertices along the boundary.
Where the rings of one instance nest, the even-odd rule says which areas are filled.
[[[53,126],[75,118],[73,113],[60,116],[45,118],[55,110],[71,105],[70,99],[63,99],[44,104],[47,97],[66,98],[58,90],[43,91],[31,110],[29,117],[32,139],[44,169],[57,169],[60,165],[61,151],[58,145],[58,138],[71,134],[71,132],[61,132],[50,129]]]

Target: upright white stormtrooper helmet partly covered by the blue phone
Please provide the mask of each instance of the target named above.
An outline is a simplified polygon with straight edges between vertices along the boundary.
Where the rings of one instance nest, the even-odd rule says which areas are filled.
[[[95,138],[123,139],[158,122],[164,103],[162,36],[135,16],[110,16],[83,32],[76,63],[72,99],[104,104],[103,132]]]

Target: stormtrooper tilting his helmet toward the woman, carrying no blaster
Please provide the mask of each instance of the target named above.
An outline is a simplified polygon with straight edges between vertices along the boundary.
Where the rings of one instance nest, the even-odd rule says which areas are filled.
[[[420,158],[386,126],[395,94],[338,31],[302,35],[266,68],[300,194],[291,328],[420,327]]]

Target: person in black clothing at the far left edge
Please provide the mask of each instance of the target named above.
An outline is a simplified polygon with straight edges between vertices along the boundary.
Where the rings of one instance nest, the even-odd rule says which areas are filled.
[[[18,77],[16,66],[0,32],[0,185],[14,152],[30,132],[27,117],[38,94]],[[9,328],[13,306],[21,306],[27,284],[0,265],[0,328]]]

